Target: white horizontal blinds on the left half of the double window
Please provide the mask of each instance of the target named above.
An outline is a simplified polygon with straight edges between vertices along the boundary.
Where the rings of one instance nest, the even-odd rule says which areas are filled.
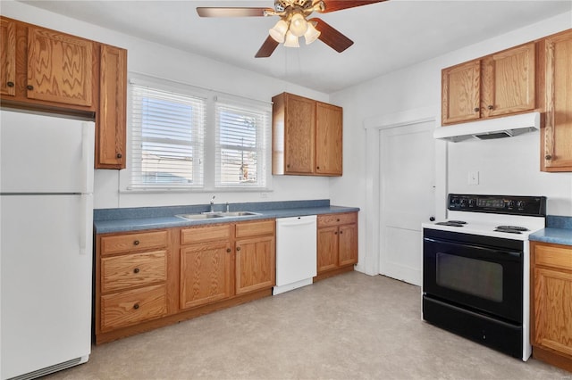
[[[131,84],[131,188],[203,186],[206,99]]]

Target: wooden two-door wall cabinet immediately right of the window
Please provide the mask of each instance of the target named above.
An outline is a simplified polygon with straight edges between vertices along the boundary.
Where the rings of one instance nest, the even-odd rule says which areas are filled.
[[[273,174],[341,176],[342,109],[299,95],[273,97]]]

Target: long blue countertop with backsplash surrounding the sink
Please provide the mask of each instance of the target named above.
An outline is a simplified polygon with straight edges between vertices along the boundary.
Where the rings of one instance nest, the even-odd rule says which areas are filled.
[[[214,211],[223,211],[224,204],[214,205]],[[359,211],[357,207],[330,205],[330,200],[290,201],[290,202],[248,202],[230,203],[230,211],[252,211],[259,215],[224,217],[213,219],[188,220],[175,215],[201,213],[210,210],[210,205],[139,207],[130,209],[94,210],[96,234],[139,231],[154,228],[189,227],[214,223],[227,223],[256,219],[289,218],[305,215],[330,214]]]

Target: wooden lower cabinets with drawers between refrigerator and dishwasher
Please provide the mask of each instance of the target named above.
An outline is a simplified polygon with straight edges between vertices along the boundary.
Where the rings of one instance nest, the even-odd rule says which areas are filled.
[[[275,220],[96,237],[96,343],[272,295]]]

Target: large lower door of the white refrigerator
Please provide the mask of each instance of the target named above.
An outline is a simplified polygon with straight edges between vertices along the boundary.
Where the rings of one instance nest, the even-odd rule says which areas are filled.
[[[93,195],[0,195],[2,379],[91,348]]]

